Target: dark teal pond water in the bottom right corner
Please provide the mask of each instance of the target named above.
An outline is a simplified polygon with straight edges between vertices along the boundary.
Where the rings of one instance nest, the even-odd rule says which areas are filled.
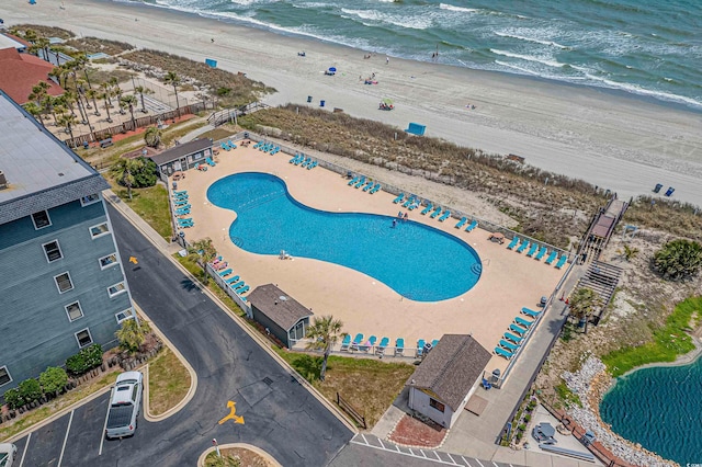
[[[680,465],[702,464],[702,358],[620,378],[600,405],[615,433]]]

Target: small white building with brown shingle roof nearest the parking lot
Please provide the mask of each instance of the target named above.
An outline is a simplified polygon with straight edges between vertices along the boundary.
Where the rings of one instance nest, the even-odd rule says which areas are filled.
[[[451,428],[475,392],[490,357],[473,337],[444,334],[406,384],[409,408]]]

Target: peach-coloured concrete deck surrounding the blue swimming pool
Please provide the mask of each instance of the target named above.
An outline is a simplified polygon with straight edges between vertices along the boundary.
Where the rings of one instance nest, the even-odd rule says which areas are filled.
[[[525,253],[507,250],[507,243],[489,241],[489,232],[479,227],[465,232],[454,227],[456,219],[439,223],[428,215],[420,215],[421,209],[409,212],[410,220],[466,241],[483,262],[478,283],[456,298],[435,303],[412,301],[385,284],[344,266],[305,258],[280,260],[278,254],[253,254],[236,247],[228,235],[236,214],[213,205],[206,196],[212,183],[233,173],[276,175],[285,181],[295,200],[317,209],[387,216],[396,216],[401,209],[393,204],[395,196],[389,193],[380,191],[371,195],[349,186],[348,180],[336,172],[321,167],[307,170],[288,163],[290,159],[291,156],[283,152],[270,156],[252,147],[239,147],[233,151],[220,150],[217,166],[210,167],[207,171],[189,171],[186,178],[178,182],[178,190],[186,190],[190,195],[192,208],[188,217],[194,220],[194,227],[184,229],[185,238],[189,241],[211,238],[229,267],[251,289],[262,284],[278,284],[315,315],[333,315],[340,319],[343,330],[350,334],[361,332],[366,338],[374,334],[378,340],[388,337],[392,344],[396,338],[404,338],[406,348],[411,349],[418,339],[431,341],[445,333],[472,333],[492,351],[514,317],[520,315],[520,309],[534,308],[542,295],[553,292],[564,274],[565,269],[556,270],[543,261],[526,258]],[[349,248],[353,249],[353,239],[348,240]],[[281,244],[280,250],[286,250],[285,246]],[[358,254],[364,253],[359,251]],[[437,260],[452,261],[451,258],[442,258],[440,252]],[[458,264],[455,271],[461,273]],[[488,364],[488,368],[503,369],[506,366],[507,361],[500,356],[494,356]]]

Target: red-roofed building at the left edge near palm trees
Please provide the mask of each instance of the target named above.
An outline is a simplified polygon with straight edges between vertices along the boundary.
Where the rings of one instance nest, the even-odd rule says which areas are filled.
[[[0,89],[18,104],[25,104],[32,88],[46,81],[49,95],[61,95],[61,87],[52,81],[48,72],[54,66],[30,54],[20,54],[14,47],[0,49]]]

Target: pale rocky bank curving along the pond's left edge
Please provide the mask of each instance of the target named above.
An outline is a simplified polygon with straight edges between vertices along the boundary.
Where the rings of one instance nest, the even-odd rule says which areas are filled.
[[[641,444],[624,440],[602,421],[600,401],[614,379],[607,373],[607,367],[599,358],[589,356],[576,373],[565,372],[563,379],[582,402],[582,408],[568,409],[568,414],[582,428],[595,433],[598,441],[615,456],[637,466],[679,467],[679,464],[664,459]]]

